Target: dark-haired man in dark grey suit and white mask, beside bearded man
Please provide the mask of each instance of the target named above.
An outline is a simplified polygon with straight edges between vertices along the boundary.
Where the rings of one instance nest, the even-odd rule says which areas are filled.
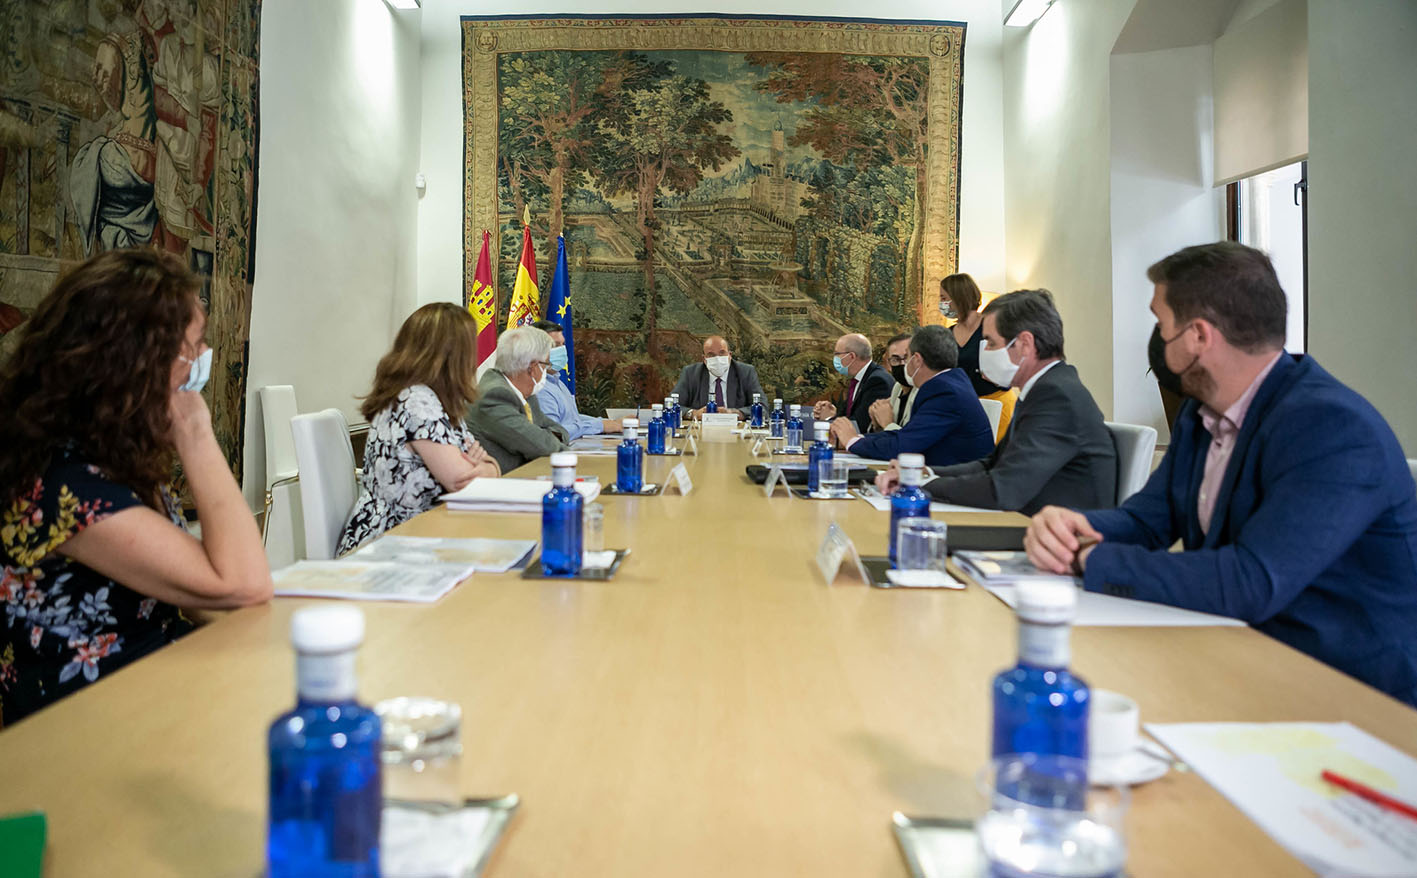
[[[942,503],[1026,514],[1050,503],[1112,506],[1117,446],[1077,370],[1063,360],[1063,317],[1053,296],[999,296],[981,326],[985,377],[1019,388],[1019,404],[998,447],[979,460],[935,469],[925,493]],[[893,466],[876,486],[890,493],[897,479]]]

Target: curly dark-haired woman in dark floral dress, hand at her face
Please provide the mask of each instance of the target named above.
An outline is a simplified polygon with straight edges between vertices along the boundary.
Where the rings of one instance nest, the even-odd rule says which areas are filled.
[[[171,255],[105,252],[60,279],[0,370],[0,726],[190,632],[183,609],[271,598],[198,392],[200,285]]]

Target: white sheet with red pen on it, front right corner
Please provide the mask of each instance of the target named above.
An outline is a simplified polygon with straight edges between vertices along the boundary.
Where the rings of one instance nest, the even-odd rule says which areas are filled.
[[[1321,877],[1417,875],[1417,820],[1322,779],[1325,770],[1407,803],[1417,759],[1348,722],[1148,724],[1260,828]]]

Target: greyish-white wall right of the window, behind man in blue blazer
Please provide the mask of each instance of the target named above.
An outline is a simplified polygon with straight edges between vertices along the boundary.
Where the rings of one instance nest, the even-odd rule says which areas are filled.
[[[1309,350],[1417,457],[1417,3],[1309,0]]]

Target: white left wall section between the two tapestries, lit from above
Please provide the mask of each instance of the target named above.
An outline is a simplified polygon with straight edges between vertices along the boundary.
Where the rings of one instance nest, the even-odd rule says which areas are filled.
[[[265,487],[256,389],[343,409],[415,307],[418,14],[383,0],[261,10],[256,270],[244,489]]]

